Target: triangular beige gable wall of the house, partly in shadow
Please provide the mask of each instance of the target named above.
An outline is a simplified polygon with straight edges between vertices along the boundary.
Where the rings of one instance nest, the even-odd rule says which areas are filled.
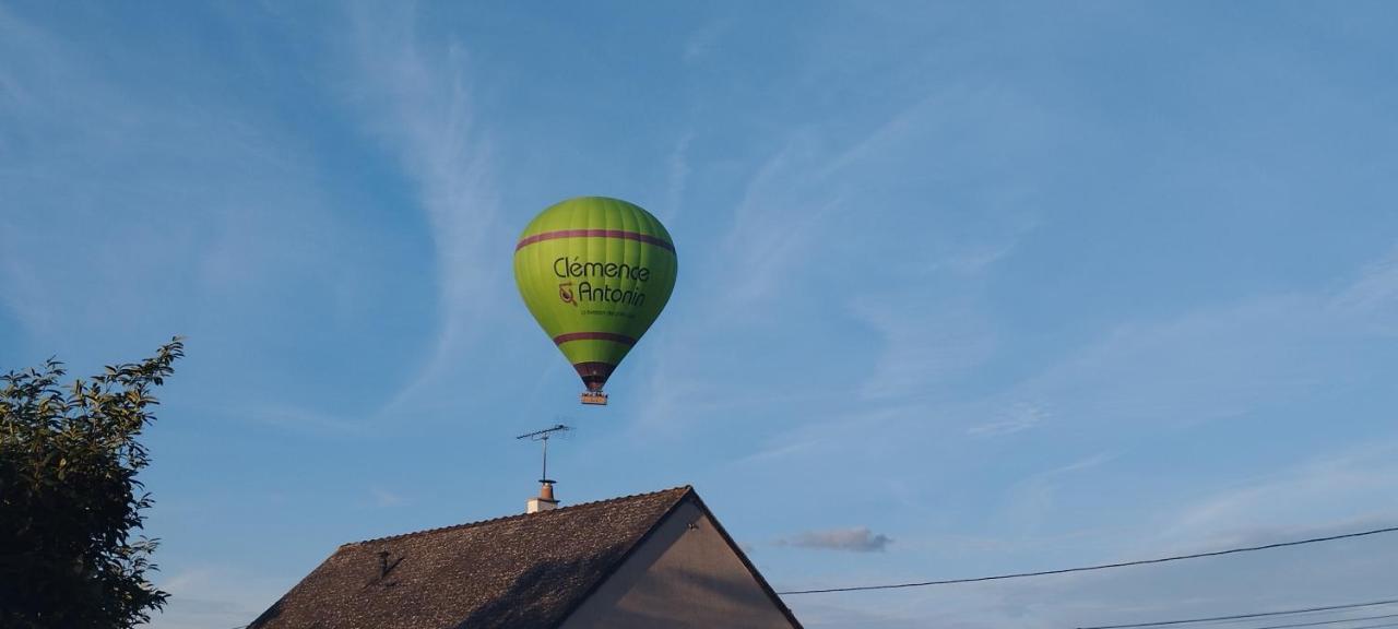
[[[790,629],[703,510],[681,505],[563,629]]]

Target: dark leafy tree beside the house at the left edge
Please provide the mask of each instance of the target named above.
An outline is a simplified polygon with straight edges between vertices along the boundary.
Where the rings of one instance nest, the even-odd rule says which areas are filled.
[[[63,363],[0,377],[0,626],[131,628],[169,597],[145,580],[158,540],[134,537],[150,493],[137,442],[179,337],[138,363],[62,386]]]

